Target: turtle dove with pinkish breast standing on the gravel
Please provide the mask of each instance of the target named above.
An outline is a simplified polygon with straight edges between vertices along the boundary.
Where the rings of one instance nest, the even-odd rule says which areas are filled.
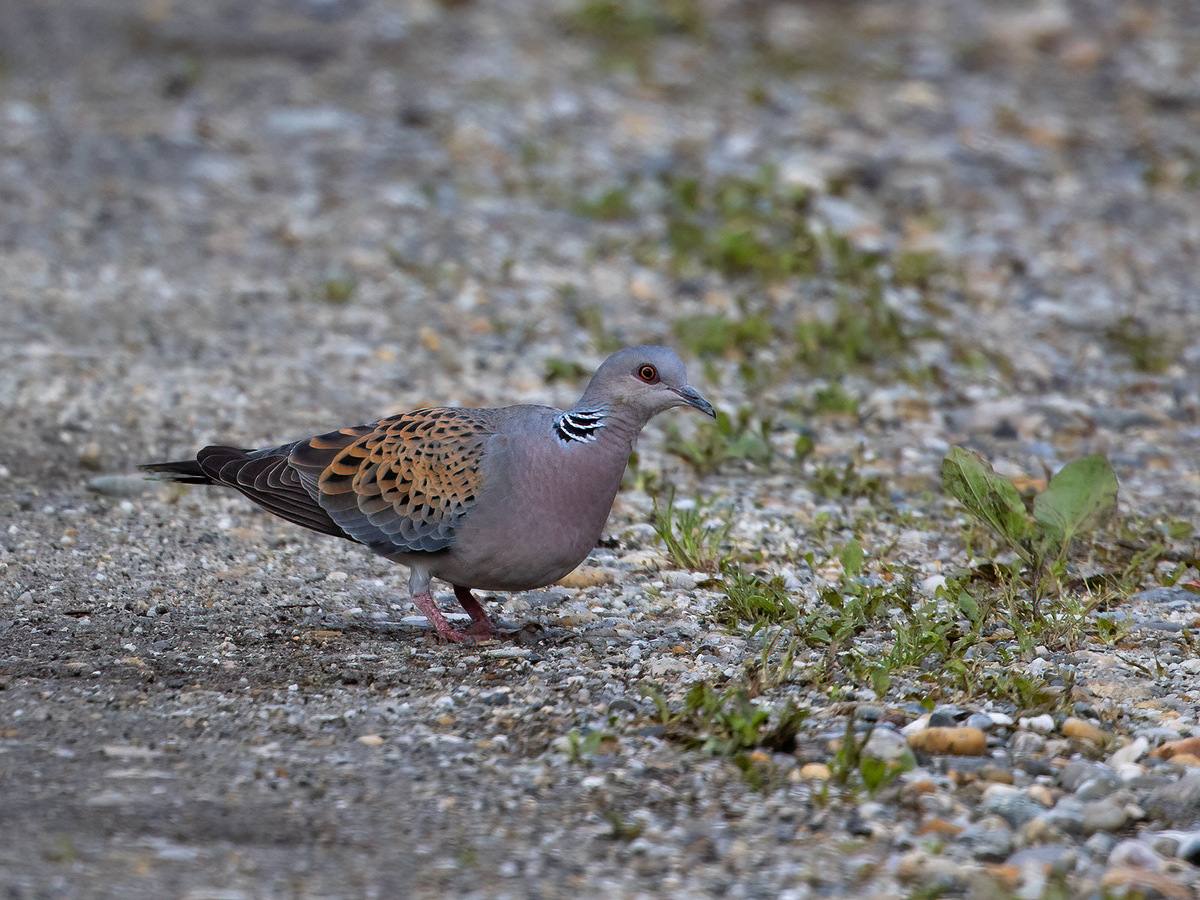
[[[498,631],[474,590],[552,584],[596,546],[646,424],[673,407],[716,418],[665,347],[608,356],[570,409],[439,407],[280,446],[210,445],[151,462],[150,478],[240,491],[276,516],[409,569],[413,602],[445,642]],[[448,582],[470,616],[456,631],[433,599]]]

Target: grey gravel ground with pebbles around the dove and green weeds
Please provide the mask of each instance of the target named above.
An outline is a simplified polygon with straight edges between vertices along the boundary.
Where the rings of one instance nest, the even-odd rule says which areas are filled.
[[[1163,577],[1194,530],[1103,611],[1120,640],[1010,659],[1045,708],[829,684],[802,643],[751,702],[808,718],[734,754],[642,690],[679,710],[763,655],[655,542],[668,485],[805,610],[856,535],[864,583],[973,559],[938,493],[956,443],[1033,480],[1104,454],[1124,521],[1200,524],[1200,7],[613,8],[0,8],[5,896],[1200,895],[1200,596]],[[814,414],[829,377],[752,378],[786,344],[680,347],[776,452],[702,470],[656,420],[587,566],[491,601],[530,625],[512,641],[439,646],[398,568],[132,474],[421,404],[570,403],[614,343],[827,308],[836,278],[662,250],[661,184],[764,167],[829,234],[955,272],[888,298],[922,335],[900,365],[936,377],[856,368],[857,413]],[[606,196],[628,209],[584,214]],[[847,463],[886,490],[814,487]],[[886,617],[856,640],[886,653]],[[847,722],[907,770],[842,784]]]

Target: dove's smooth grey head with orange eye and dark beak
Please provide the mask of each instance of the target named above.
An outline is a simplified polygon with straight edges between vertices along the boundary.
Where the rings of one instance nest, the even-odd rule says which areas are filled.
[[[716,418],[713,404],[688,385],[683,360],[665,347],[617,350],[600,365],[575,404],[576,409],[629,409],[643,422],[672,407],[695,407]]]

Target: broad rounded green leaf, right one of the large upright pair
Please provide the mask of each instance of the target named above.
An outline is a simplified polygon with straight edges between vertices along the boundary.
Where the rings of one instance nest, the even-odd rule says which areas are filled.
[[[1072,538],[1100,524],[1116,510],[1117,476],[1103,456],[1085,456],[1058,469],[1046,490],[1033,498],[1033,518],[1050,556],[1058,556]]]

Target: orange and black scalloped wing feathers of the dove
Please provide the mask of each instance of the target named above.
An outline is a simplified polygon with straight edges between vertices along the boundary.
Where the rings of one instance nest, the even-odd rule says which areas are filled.
[[[493,410],[418,409],[322,434],[288,464],[337,526],[380,553],[436,552],[479,496]]]

